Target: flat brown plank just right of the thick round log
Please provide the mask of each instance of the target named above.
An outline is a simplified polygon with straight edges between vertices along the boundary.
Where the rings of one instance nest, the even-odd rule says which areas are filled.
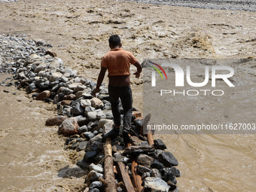
[[[121,175],[126,192],[136,192],[123,162],[117,162],[117,172]]]

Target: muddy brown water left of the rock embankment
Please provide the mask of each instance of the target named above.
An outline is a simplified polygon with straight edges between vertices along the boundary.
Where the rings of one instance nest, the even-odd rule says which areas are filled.
[[[0,80],[8,76],[1,74]],[[15,87],[0,87],[0,99],[0,191],[81,187],[84,171],[72,163],[72,153],[63,150],[57,127],[44,126],[55,114],[53,105],[29,99]]]

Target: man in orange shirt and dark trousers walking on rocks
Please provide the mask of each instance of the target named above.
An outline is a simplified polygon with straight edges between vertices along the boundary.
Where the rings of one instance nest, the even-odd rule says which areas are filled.
[[[123,142],[127,145],[130,142],[129,131],[133,110],[133,96],[130,88],[130,64],[133,64],[137,68],[137,72],[133,74],[136,75],[136,78],[139,78],[142,72],[142,66],[132,53],[121,48],[122,44],[118,35],[111,35],[108,43],[111,50],[102,58],[101,70],[96,89],[93,90],[93,96],[96,96],[96,93],[99,92],[99,87],[108,69],[108,94],[114,117],[114,125],[113,129],[103,136],[103,141],[108,137],[114,139],[120,133],[120,99],[123,105]]]

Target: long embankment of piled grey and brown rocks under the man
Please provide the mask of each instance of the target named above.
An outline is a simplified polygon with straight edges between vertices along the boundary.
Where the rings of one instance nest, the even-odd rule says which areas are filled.
[[[93,97],[96,83],[65,68],[62,59],[46,49],[50,45],[44,41],[28,41],[15,36],[0,36],[0,41],[0,71],[14,73],[17,87],[26,89],[35,99],[57,105],[58,115],[47,119],[46,125],[59,126],[59,134],[69,137],[65,148],[85,151],[83,160],[77,163],[87,170],[85,183],[90,191],[102,191],[105,160],[102,134],[113,125],[107,87],[102,85],[99,95]],[[175,168],[178,161],[165,151],[166,145],[160,139],[149,145],[146,136],[141,134],[142,125],[141,113],[134,108],[130,147],[126,148],[122,136],[111,141],[114,164],[123,163],[130,176],[136,174],[141,178],[145,191],[175,190],[175,177],[180,176]],[[119,176],[116,174],[117,183],[122,181]],[[118,191],[126,190],[124,184],[119,186]]]

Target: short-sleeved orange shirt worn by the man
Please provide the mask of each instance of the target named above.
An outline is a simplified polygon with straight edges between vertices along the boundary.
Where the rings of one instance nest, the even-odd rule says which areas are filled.
[[[103,56],[101,66],[108,68],[108,76],[130,75],[130,63],[137,61],[133,53],[118,48],[111,49]]]

